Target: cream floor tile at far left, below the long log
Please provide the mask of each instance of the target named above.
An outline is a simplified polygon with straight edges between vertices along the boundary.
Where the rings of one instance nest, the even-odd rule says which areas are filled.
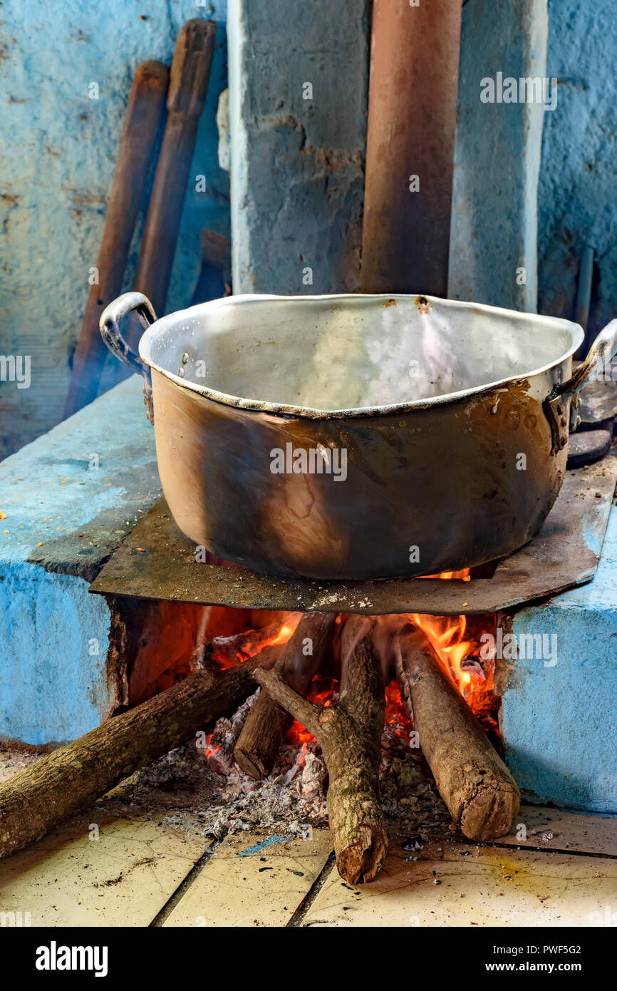
[[[0,860],[0,912],[30,913],[32,926],[149,926],[209,845],[163,817],[90,810]]]

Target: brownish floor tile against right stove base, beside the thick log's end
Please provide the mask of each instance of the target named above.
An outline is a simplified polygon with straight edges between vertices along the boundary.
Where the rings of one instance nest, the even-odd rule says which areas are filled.
[[[525,826],[525,832],[520,826]],[[521,838],[526,834],[525,839]],[[593,816],[567,809],[524,805],[512,834],[497,840],[508,846],[540,850],[576,850],[617,856],[617,817]]]

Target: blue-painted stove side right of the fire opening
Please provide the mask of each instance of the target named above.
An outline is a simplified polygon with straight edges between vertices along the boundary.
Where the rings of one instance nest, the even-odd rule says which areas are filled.
[[[617,507],[595,578],[514,616],[512,631],[557,634],[557,663],[514,662],[503,695],[505,757],[526,800],[617,814]]]

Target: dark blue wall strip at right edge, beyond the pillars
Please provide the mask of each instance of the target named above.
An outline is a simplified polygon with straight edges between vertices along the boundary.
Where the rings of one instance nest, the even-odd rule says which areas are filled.
[[[474,0],[471,0],[474,2]],[[580,252],[596,250],[589,326],[617,313],[617,9],[614,0],[549,0],[539,211],[539,310],[572,319]]]

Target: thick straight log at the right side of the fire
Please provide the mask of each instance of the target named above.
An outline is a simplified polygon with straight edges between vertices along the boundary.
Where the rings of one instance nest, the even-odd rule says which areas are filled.
[[[395,652],[403,701],[454,821],[469,839],[505,835],[521,803],[508,768],[424,634],[401,635]]]

